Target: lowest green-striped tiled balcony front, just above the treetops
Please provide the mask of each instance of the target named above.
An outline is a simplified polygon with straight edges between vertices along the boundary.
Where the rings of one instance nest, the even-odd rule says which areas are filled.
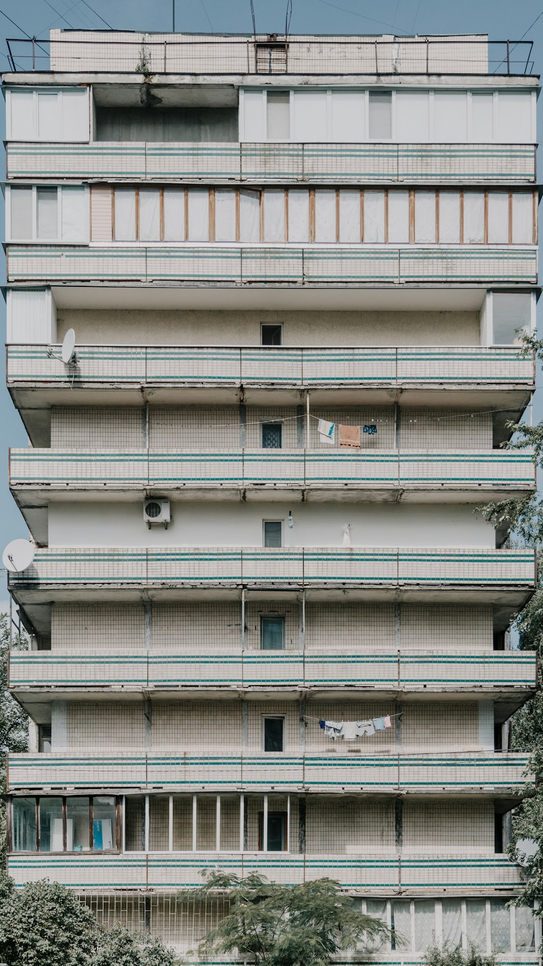
[[[202,884],[203,868],[222,868],[236,875],[262,872],[291,885],[328,876],[357,895],[397,893],[425,895],[470,890],[488,895],[522,887],[520,867],[504,855],[440,855],[416,858],[379,855],[293,855],[283,852],[126,852],[122,854],[12,854],[8,873],[15,885],[50,878],[72,889],[104,893],[117,889],[175,891]],[[531,959],[530,959],[531,961]]]

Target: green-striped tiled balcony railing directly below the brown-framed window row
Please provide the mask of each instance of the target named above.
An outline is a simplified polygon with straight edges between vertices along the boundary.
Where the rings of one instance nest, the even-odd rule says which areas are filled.
[[[534,245],[15,244],[9,282],[176,281],[361,286],[537,282]]]

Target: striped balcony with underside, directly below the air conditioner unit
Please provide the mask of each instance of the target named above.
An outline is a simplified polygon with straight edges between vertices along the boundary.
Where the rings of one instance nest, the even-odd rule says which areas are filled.
[[[346,594],[360,600],[506,600],[516,608],[534,587],[533,551],[485,548],[41,547],[33,564],[9,579],[23,606],[48,602],[53,592],[60,601],[135,600],[143,591],[154,599],[172,599],[172,593],[212,599],[238,597],[247,588],[305,589],[309,599],[328,600]]]

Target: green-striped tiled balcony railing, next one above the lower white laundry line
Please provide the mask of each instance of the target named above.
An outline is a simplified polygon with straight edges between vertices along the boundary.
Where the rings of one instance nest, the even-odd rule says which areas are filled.
[[[280,688],[300,691],[348,686],[369,692],[496,693],[535,687],[531,651],[383,651],[351,653],[332,650],[206,650],[188,644],[174,651],[103,654],[63,651],[14,651],[10,655],[10,688],[80,691],[107,689],[227,692]]]

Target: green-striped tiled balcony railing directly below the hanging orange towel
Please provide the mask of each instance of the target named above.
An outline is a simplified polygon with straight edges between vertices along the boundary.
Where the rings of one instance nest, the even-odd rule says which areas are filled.
[[[535,488],[531,452],[376,452],[311,449],[11,449],[10,484],[46,493],[180,490],[367,490],[526,492]]]

